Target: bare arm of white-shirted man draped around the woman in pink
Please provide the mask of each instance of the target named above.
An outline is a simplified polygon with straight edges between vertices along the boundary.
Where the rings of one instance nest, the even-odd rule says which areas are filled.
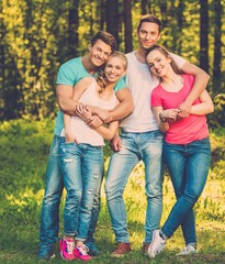
[[[179,110],[181,111],[179,116],[181,118],[185,118],[191,112],[191,106],[193,101],[196,100],[196,98],[199,98],[203,90],[206,88],[210,76],[203,69],[188,62],[183,64],[181,69],[184,74],[190,74],[195,77],[191,92],[179,106]]]

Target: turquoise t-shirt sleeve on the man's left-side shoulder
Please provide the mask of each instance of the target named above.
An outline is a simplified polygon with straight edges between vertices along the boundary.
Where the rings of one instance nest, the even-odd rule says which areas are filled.
[[[68,64],[63,64],[57,74],[56,85],[74,86],[76,79],[76,74],[72,70],[72,67],[69,67]]]

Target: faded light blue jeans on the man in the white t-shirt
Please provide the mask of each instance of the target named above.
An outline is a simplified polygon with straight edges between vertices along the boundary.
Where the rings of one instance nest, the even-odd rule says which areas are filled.
[[[145,194],[147,211],[145,242],[150,242],[153,231],[159,227],[162,210],[162,134],[122,132],[122,150],[112,154],[105,179],[106,202],[116,242],[128,243],[126,210],[123,193],[133,168],[145,164]]]

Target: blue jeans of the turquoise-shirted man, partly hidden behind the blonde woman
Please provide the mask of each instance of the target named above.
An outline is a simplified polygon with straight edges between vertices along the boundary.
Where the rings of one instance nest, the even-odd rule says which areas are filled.
[[[63,176],[58,162],[58,143],[59,136],[55,135],[50,145],[48,163],[45,175],[45,194],[42,202],[41,227],[40,227],[40,254],[45,248],[55,244],[58,240],[59,230],[59,205],[64,189]],[[97,227],[97,221],[100,210],[100,189],[99,182],[98,190],[94,197],[90,230],[88,240],[93,241],[93,233]]]

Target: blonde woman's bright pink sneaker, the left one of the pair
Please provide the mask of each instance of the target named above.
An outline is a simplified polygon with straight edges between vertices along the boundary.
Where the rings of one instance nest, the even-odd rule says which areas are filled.
[[[72,239],[66,240],[63,238],[59,241],[59,252],[60,256],[65,261],[74,261],[77,257],[74,254],[75,251],[75,241]]]

